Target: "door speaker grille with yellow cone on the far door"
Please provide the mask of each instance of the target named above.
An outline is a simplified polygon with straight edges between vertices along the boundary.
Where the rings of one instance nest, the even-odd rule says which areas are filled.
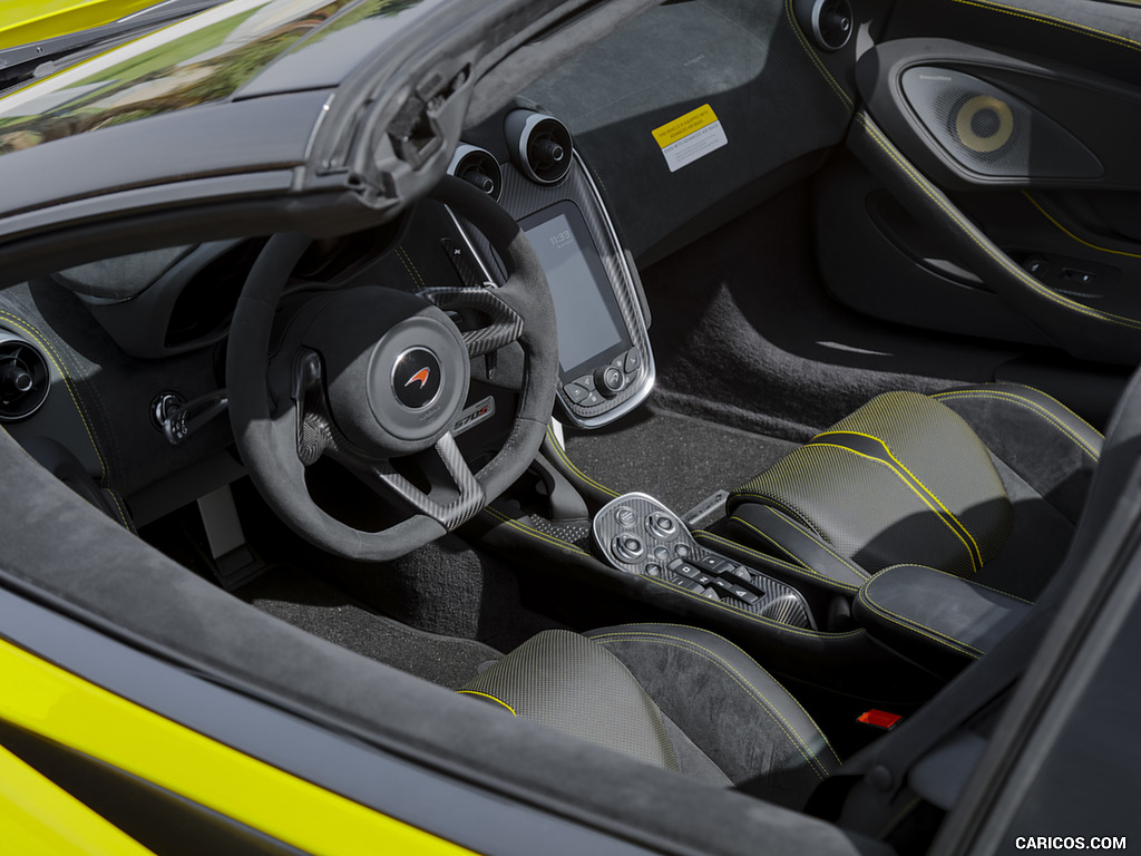
[[[915,115],[947,154],[996,178],[1095,178],[1101,162],[1021,98],[970,74],[921,65],[901,78]]]

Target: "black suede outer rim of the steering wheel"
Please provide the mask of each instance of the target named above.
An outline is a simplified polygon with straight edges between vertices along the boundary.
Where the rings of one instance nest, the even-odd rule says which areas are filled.
[[[285,390],[270,389],[267,366],[277,305],[310,239],[299,233],[274,235],[253,265],[234,310],[226,357],[229,414],[234,439],[250,479],[267,504],[293,531],[323,549],[351,559],[396,558],[436,540],[478,512],[523,475],[534,459],[555,401],[558,377],[555,308],[542,266],[523,231],[494,201],[460,179],[443,179],[431,197],[450,205],[478,228],[508,270],[508,280],[499,289],[442,291],[453,296],[467,291],[477,300],[491,294],[521,321],[518,342],[525,356],[524,381],[511,430],[502,449],[472,474],[459,458],[450,433],[445,430],[438,439],[432,439],[431,447],[439,453],[453,479],[459,484],[470,477],[478,487],[478,498],[474,500],[471,485],[461,485],[461,494],[469,491],[463,509],[434,509],[435,514],[412,511],[395,525],[366,532],[334,518],[309,495],[305,481],[307,463],[299,449],[301,405],[297,401],[292,404],[283,401],[288,397]],[[494,341],[491,345],[474,341],[478,338],[469,336],[463,340],[469,353],[480,353],[476,349],[495,345]],[[378,420],[381,418],[378,415]],[[461,468],[458,474],[453,471],[455,466]]]

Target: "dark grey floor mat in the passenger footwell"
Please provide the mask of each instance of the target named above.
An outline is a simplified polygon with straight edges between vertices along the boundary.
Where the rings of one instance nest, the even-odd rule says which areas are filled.
[[[621,493],[648,493],[679,515],[718,490],[737,487],[795,445],[653,403],[614,428],[567,431],[566,439],[583,473]]]

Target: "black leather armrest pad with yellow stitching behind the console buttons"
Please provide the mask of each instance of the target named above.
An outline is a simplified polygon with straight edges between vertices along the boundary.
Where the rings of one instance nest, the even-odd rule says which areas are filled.
[[[852,616],[890,647],[947,675],[993,649],[1030,606],[932,567],[896,565],[859,590]]]

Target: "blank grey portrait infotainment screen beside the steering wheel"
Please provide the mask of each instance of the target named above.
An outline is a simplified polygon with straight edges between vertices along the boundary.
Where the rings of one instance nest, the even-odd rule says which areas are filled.
[[[519,225],[535,248],[551,286],[563,379],[591,372],[629,350],[630,333],[577,205],[559,202]]]

